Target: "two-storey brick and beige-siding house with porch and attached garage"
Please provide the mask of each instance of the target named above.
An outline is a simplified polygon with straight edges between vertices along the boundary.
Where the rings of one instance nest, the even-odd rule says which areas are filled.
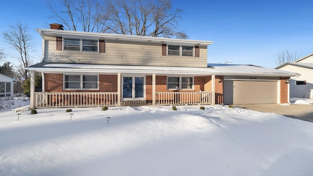
[[[208,66],[210,41],[66,31],[60,24],[50,26],[36,29],[43,38],[43,59],[27,68],[31,107],[234,104],[242,101],[230,85],[244,82],[275,87],[274,98],[253,101],[249,96],[249,103],[287,103],[288,94],[283,91],[287,85],[279,83],[298,75],[258,66]],[[234,67],[237,70],[228,70]],[[34,72],[43,75],[43,92],[34,92]]]

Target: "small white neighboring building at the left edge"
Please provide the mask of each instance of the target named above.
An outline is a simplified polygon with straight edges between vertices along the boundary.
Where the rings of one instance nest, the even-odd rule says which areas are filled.
[[[0,74],[0,98],[13,97],[13,83],[17,80]]]

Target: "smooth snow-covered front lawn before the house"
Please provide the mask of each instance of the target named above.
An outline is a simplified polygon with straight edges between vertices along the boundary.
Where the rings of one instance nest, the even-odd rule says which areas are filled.
[[[0,176],[313,176],[313,123],[227,106],[0,110]],[[106,117],[111,117],[107,124]]]

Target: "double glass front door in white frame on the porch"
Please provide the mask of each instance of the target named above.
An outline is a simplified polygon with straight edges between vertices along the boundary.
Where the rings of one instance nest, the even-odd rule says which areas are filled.
[[[123,76],[123,100],[145,100],[144,86],[144,76]]]

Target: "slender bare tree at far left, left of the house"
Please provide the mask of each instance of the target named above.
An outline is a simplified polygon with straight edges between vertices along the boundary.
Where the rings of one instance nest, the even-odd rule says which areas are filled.
[[[9,31],[3,32],[2,35],[5,42],[19,53],[19,56],[12,57],[18,58],[23,69],[23,77],[27,79],[28,74],[25,68],[32,63],[29,54],[33,51],[32,38],[27,33],[27,24],[18,22],[15,25],[10,25]]]

